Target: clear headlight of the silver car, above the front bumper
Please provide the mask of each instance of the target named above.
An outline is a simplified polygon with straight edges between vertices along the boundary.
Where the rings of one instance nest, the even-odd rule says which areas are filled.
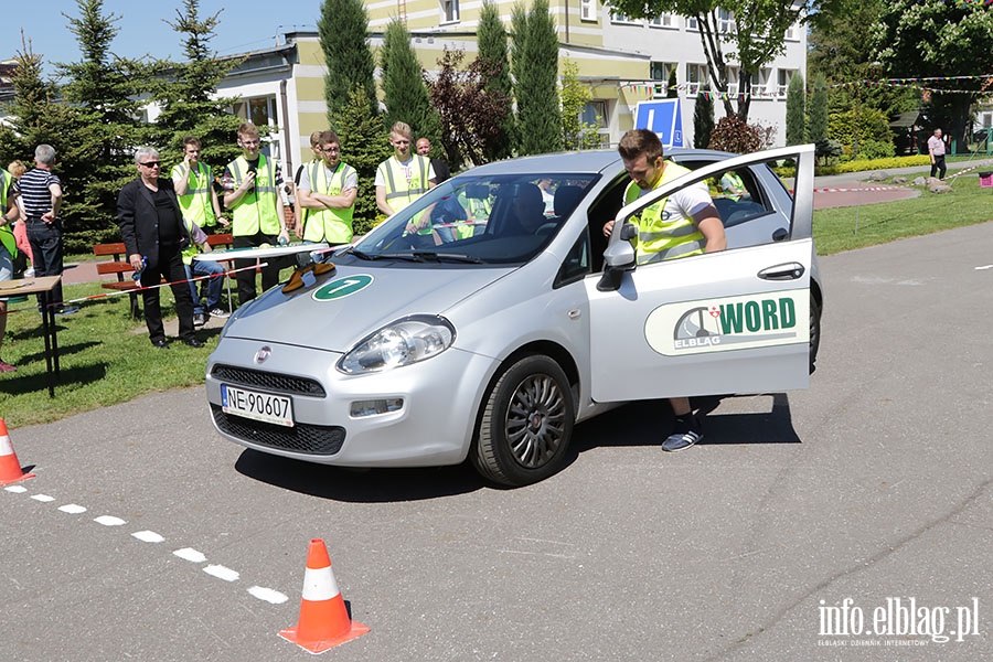
[[[338,370],[354,375],[410,365],[440,354],[453,341],[451,322],[438,316],[415,314],[367,335],[341,357]]]

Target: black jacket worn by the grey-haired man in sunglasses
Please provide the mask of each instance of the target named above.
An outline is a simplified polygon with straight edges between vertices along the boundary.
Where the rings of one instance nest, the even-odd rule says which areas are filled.
[[[159,178],[159,190],[166,191],[175,209],[175,222],[179,224],[177,233],[180,239],[180,248],[190,245],[190,232],[183,223],[183,212],[180,210],[179,200],[175,197],[175,189],[172,180]],[[148,266],[157,267],[159,264],[159,214],[156,212],[156,202],[152,192],[141,182],[141,178],[128,182],[117,196],[117,225],[120,227],[120,236],[124,239],[128,255],[145,255],[148,257]]]

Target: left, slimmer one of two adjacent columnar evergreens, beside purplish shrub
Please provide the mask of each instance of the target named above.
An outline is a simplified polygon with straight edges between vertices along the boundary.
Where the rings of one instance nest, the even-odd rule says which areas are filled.
[[[479,42],[480,66],[492,72],[485,82],[485,90],[499,98],[506,99],[503,120],[500,122],[500,131],[485,149],[485,159],[496,161],[506,159],[513,154],[514,145],[514,115],[513,115],[513,83],[510,76],[510,60],[508,57],[506,29],[500,20],[500,9],[492,0],[483,0],[479,12],[479,28],[477,28]],[[442,140],[445,137],[442,137]]]

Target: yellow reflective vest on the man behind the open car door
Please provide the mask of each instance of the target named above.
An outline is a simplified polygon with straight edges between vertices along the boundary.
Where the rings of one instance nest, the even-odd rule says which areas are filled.
[[[683,177],[687,172],[690,172],[688,168],[666,161],[662,177],[659,178],[652,190]],[[639,189],[638,184],[634,182],[628,184],[624,191],[624,204],[630,204],[638,200],[640,193],[641,189]],[[634,245],[634,254],[639,265],[703,253],[706,238],[693,223],[693,218],[677,218],[670,222],[665,213],[668,203],[668,197],[656,200],[653,204],[642,210],[640,217],[631,218],[638,226],[638,241]]]

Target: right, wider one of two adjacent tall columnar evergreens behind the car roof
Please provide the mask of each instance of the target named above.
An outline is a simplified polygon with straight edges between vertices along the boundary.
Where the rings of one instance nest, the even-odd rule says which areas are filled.
[[[515,71],[520,71],[514,97],[517,99],[521,153],[541,154],[562,149],[558,36],[548,13],[548,0],[535,0],[527,12],[523,52]]]

